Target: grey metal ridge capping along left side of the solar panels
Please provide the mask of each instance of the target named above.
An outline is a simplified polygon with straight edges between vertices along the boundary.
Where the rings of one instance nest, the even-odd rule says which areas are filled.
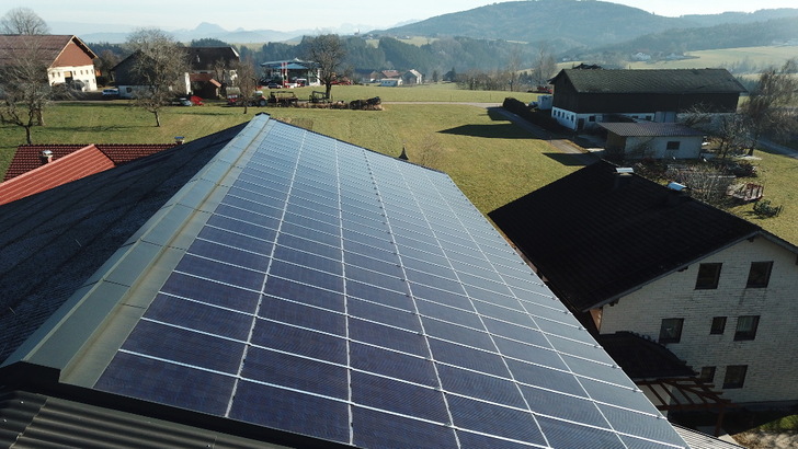
[[[59,370],[61,381],[69,378],[69,383],[91,387],[101,375],[96,369],[104,366],[92,361],[110,359],[153,297],[135,293],[157,291],[171,273],[162,267],[153,270],[153,264],[171,262],[172,267],[176,266],[187,250],[185,243],[193,240],[191,234],[202,229],[208,211],[228,191],[230,184],[226,181],[238,175],[240,162],[251,158],[256,148],[253,143],[261,141],[273,127],[267,114],[258,114],[250,120],[0,368],[29,362]],[[157,285],[156,280],[146,279],[148,275],[152,275]],[[98,350],[87,355],[94,347]],[[79,359],[81,364],[76,364]],[[81,372],[70,372],[76,365],[86,368]]]

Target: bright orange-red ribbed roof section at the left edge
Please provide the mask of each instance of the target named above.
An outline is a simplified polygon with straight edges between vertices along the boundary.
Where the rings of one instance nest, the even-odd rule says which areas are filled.
[[[115,165],[95,146],[87,146],[58,160],[0,184],[0,205],[80,180]]]

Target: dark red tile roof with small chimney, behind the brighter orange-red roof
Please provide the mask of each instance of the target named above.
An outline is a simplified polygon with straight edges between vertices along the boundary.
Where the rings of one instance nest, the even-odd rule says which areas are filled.
[[[145,156],[150,156],[168,148],[172,148],[174,143],[156,143],[156,145],[137,145],[137,143],[113,143],[113,145],[95,145],[115,165],[130,162]],[[14,158],[11,160],[9,170],[5,172],[3,181],[9,181],[23,173],[42,166],[42,151],[49,150],[53,152],[53,160],[56,161],[66,157],[87,145],[23,145],[16,149]]]

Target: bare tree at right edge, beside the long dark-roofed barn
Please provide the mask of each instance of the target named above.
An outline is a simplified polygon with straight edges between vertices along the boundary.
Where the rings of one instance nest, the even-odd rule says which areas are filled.
[[[798,61],[790,59],[780,69],[770,68],[760,74],[756,88],[749,93],[741,113],[746,117],[751,138],[757,143],[763,135],[784,136],[795,129],[798,113]],[[749,154],[753,154],[753,146]]]

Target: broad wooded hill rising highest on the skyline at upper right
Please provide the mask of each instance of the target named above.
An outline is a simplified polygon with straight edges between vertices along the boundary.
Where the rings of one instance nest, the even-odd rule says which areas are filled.
[[[606,1],[535,0],[493,3],[374,33],[548,42],[565,50],[623,43],[673,28],[763,22],[787,16],[798,16],[798,9],[665,18]]]

